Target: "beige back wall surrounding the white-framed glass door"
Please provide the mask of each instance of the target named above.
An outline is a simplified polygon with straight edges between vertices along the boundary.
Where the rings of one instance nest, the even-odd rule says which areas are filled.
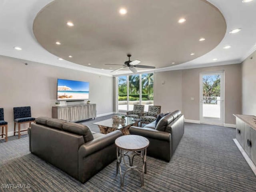
[[[200,73],[224,70],[226,124],[235,124],[233,114],[242,112],[241,64],[204,67],[154,74],[154,104],[162,106],[162,112],[179,109],[188,120],[200,120]],[[162,81],[165,84],[162,85]],[[194,97],[194,100],[190,98]]]

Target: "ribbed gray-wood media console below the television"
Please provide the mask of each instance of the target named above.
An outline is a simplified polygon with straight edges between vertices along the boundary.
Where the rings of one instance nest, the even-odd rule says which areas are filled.
[[[96,118],[96,104],[52,106],[52,118],[70,122]]]

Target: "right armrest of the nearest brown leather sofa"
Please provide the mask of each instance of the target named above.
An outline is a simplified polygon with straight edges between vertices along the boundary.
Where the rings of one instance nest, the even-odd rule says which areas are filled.
[[[113,144],[116,140],[116,138],[122,136],[122,132],[120,130],[116,130],[113,132],[110,132],[106,134],[103,137],[96,138],[94,140],[91,140],[89,142],[86,142],[85,144],[82,144],[78,150],[78,155],[80,158],[84,158],[86,156],[89,156],[90,154],[93,154],[94,152],[97,152],[107,146],[110,146]]]

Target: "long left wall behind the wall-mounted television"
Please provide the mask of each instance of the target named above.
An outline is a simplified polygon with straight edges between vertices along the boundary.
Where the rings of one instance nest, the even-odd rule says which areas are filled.
[[[90,82],[89,100],[96,103],[97,115],[114,111],[112,77],[0,56],[0,108],[8,132],[14,130],[13,107],[31,106],[33,117],[52,116],[57,78]]]

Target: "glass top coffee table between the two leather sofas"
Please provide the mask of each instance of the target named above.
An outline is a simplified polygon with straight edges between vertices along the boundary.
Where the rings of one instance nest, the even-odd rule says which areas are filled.
[[[140,119],[126,117],[123,123],[114,123],[113,119],[107,119],[104,121],[93,123],[94,125],[98,125],[100,128],[100,133],[107,134],[115,130],[120,130],[124,135],[128,135],[129,129],[131,126],[138,126]]]

